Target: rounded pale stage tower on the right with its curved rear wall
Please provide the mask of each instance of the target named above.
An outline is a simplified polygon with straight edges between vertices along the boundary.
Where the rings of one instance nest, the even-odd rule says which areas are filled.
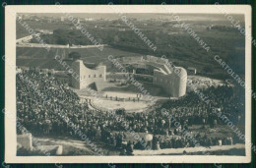
[[[182,67],[169,67],[167,59],[147,55],[145,57],[123,57],[121,62],[133,65],[135,69],[153,69],[153,75],[147,76],[152,76],[153,84],[160,85],[170,96],[180,97],[186,94],[187,71]],[[136,74],[136,76],[145,78],[144,74]]]

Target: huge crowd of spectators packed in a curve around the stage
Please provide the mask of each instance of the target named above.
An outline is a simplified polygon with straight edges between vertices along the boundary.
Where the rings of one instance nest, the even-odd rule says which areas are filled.
[[[188,131],[201,145],[232,144],[233,138],[211,138],[190,130],[190,126],[224,124],[214,113],[220,108],[233,123],[244,122],[244,99],[242,93],[234,92],[228,85],[203,90],[209,95],[210,104],[193,92],[176,100],[168,100],[149,113],[121,113],[90,108],[90,101],[81,101],[79,96],[51,73],[40,70],[23,70],[17,74],[17,115],[21,124],[33,135],[69,136],[78,138],[74,130],[80,130],[90,140],[104,142],[121,150],[121,154],[132,154],[133,149],[145,149],[142,141],[128,140],[127,134],[149,133],[154,135],[147,144],[151,149],[193,147],[195,142],[182,136]],[[239,94],[239,96],[234,96]],[[182,108],[181,108],[182,107]],[[161,113],[164,108],[179,127]],[[70,124],[71,123],[71,124]],[[75,128],[75,129],[74,129]],[[18,134],[20,134],[20,131]],[[146,141],[147,143],[149,141]]]

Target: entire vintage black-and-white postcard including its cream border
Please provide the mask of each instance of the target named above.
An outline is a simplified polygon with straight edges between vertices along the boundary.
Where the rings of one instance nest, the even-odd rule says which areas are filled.
[[[250,6],[57,2],[6,18],[10,162],[251,161]]]

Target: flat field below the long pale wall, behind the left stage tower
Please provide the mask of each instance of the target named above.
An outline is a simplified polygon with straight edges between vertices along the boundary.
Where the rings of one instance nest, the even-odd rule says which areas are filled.
[[[56,55],[64,55],[65,58],[68,58],[69,52],[79,52],[81,54],[81,59],[87,63],[98,64],[103,62],[105,65],[107,65],[107,70],[110,68],[111,64],[108,61],[109,55],[114,57],[142,55],[134,52],[115,49],[112,47],[104,47],[103,52],[97,48],[51,48],[48,52],[44,48],[17,47],[17,66],[61,70],[61,66],[57,63],[56,60],[54,60],[54,58]],[[71,64],[70,61],[66,62]]]

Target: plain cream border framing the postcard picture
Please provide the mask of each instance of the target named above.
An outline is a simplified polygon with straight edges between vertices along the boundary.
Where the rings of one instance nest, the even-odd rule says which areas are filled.
[[[108,5],[61,5],[69,13],[115,13]],[[162,5],[115,5],[123,13],[165,13]],[[251,6],[222,5],[229,14],[245,16],[246,32],[251,34]],[[215,5],[168,5],[174,13],[218,14]],[[10,5],[5,7],[5,57],[16,64],[16,14],[61,13],[55,5]],[[226,21],[228,22],[228,21]],[[245,38],[245,84],[251,86],[251,41]],[[246,91],[245,91],[246,92]],[[245,95],[246,156],[161,155],[161,156],[16,156],[16,71],[5,63],[5,162],[6,163],[248,163],[251,161],[251,96]],[[10,117],[10,115],[12,117]]]

